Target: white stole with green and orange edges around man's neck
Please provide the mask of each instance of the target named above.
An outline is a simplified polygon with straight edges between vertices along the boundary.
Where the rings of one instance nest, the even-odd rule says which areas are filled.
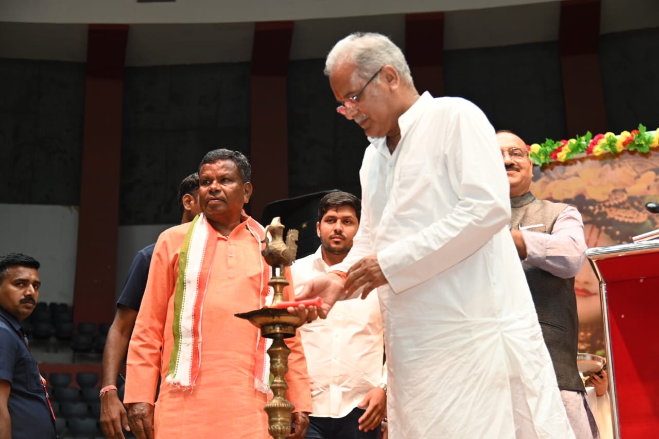
[[[250,223],[252,227],[250,227]],[[254,231],[258,228],[260,233]],[[258,222],[248,220],[248,230],[254,236],[256,245],[264,235],[264,228]],[[211,267],[217,246],[216,231],[203,214],[194,218],[179,251],[179,273],[174,293],[174,319],[172,332],[174,345],[169,357],[169,369],[165,382],[185,390],[192,389],[201,363],[201,316],[204,297],[211,276]],[[260,305],[272,303],[273,289],[268,287],[263,297],[264,285],[270,279],[270,267],[261,264]],[[258,332],[256,359],[254,363],[254,388],[260,392],[270,392],[270,357],[266,355],[272,339],[264,339]]]

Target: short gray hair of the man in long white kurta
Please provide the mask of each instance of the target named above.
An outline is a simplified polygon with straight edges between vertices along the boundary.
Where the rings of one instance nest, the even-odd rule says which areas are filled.
[[[351,63],[357,75],[368,79],[384,65],[391,65],[403,82],[413,86],[412,74],[405,55],[389,38],[374,32],[355,32],[343,38],[329,51],[325,61],[325,74],[329,76],[337,63]],[[376,78],[379,82],[380,78]]]

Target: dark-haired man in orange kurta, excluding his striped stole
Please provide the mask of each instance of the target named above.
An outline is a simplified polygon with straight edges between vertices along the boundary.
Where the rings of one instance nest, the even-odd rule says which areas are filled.
[[[249,174],[246,158],[229,150],[209,152],[200,165],[200,204],[212,226],[208,240],[217,244],[195,339],[200,342],[199,368],[189,390],[165,382],[165,376],[174,343],[179,251],[190,223],[171,227],[158,238],[127,361],[124,402],[138,438],[270,438],[263,410],[270,396],[254,384],[260,332],[233,315],[263,307],[268,293],[270,267],[259,242],[264,229],[243,212],[252,192]],[[292,289],[287,287],[284,295],[292,300]],[[295,405],[296,423],[289,437],[301,439],[312,411],[309,378],[299,337],[286,342],[292,351],[287,398]]]

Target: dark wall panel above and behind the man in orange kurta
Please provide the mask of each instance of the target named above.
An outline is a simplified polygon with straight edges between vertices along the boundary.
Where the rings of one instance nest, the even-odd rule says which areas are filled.
[[[206,152],[249,152],[248,63],[126,69],[122,225],[176,223],[181,180]]]

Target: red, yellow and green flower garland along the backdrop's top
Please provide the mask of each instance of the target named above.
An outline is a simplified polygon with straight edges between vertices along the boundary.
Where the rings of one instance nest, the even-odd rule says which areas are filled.
[[[580,154],[583,156],[619,154],[625,149],[647,154],[651,148],[659,148],[659,129],[647,131],[645,125],[639,124],[638,129],[631,132],[623,131],[617,136],[613,132],[593,136],[588,131],[583,136],[576,136],[569,140],[546,138],[543,143],[534,143],[528,145],[527,148],[529,148],[531,161],[538,166],[552,161],[567,161]]]

